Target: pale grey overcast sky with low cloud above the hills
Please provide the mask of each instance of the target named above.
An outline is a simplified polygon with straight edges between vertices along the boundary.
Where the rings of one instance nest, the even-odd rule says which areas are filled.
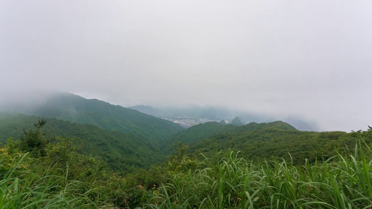
[[[372,1],[0,0],[0,88],[372,125]]]

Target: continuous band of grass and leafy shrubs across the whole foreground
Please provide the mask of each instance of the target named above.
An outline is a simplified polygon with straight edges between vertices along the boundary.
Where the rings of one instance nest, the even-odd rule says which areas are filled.
[[[50,150],[67,146],[65,142],[62,140]],[[62,148],[58,150],[70,150]],[[301,166],[285,160],[246,161],[240,157],[240,152],[230,149],[203,154],[201,161],[180,155],[182,159],[175,165],[169,162],[169,166],[175,166],[174,171],[184,166],[187,169],[180,169],[167,183],[152,189],[137,186],[136,181],[129,184],[131,178],[128,176],[96,181],[96,174],[89,169],[83,172],[85,177],[80,177],[78,171],[84,169],[77,163],[66,163],[65,167],[61,163],[54,167],[37,166],[38,162],[42,164],[40,159],[47,159],[29,159],[28,154],[8,155],[6,151],[0,149],[0,208],[119,208],[127,205],[151,209],[372,208],[372,151],[366,143],[356,144],[349,156],[336,155],[314,163],[305,161]],[[66,159],[79,156],[71,155]],[[195,166],[186,166],[194,163]],[[68,172],[68,165],[76,166],[74,175]],[[35,170],[38,167],[42,170]],[[116,184],[121,187],[114,191]]]

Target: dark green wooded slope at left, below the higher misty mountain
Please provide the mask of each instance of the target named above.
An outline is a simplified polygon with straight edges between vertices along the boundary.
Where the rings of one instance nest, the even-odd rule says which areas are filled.
[[[18,140],[26,130],[35,128],[33,124],[42,118],[23,114],[0,115],[0,142],[13,137]],[[90,124],[72,123],[54,118],[45,118],[46,125],[42,131],[48,137],[77,137],[84,143],[82,151],[86,154],[107,158],[110,168],[125,172],[129,167],[147,167],[162,159],[161,152],[150,142],[133,134],[108,131]]]

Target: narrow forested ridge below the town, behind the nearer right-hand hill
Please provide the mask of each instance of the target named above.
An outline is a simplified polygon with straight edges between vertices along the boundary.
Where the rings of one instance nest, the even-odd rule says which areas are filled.
[[[168,138],[166,141],[160,144],[160,149],[169,154],[169,152],[174,150],[173,144],[176,144],[177,142],[182,142],[183,144],[186,145],[192,145],[195,144],[196,142],[201,141],[202,139],[208,138],[216,134],[221,134],[225,132],[230,133],[246,132],[269,127],[276,127],[278,129],[283,130],[296,130],[293,126],[282,121],[275,121],[270,123],[252,122],[242,126],[235,126],[232,124],[223,125],[219,122],[207,122],[200,123],[198,125],[192,126],[184,131],[180,131],[172,135],[170,138]]]

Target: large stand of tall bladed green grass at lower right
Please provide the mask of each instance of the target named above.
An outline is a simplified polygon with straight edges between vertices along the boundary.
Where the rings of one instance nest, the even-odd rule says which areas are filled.
[[[144,208],[372,208],[372,151],[292,165],[247,162],[227,150],[203,155],[195,172],[175,175]]]

